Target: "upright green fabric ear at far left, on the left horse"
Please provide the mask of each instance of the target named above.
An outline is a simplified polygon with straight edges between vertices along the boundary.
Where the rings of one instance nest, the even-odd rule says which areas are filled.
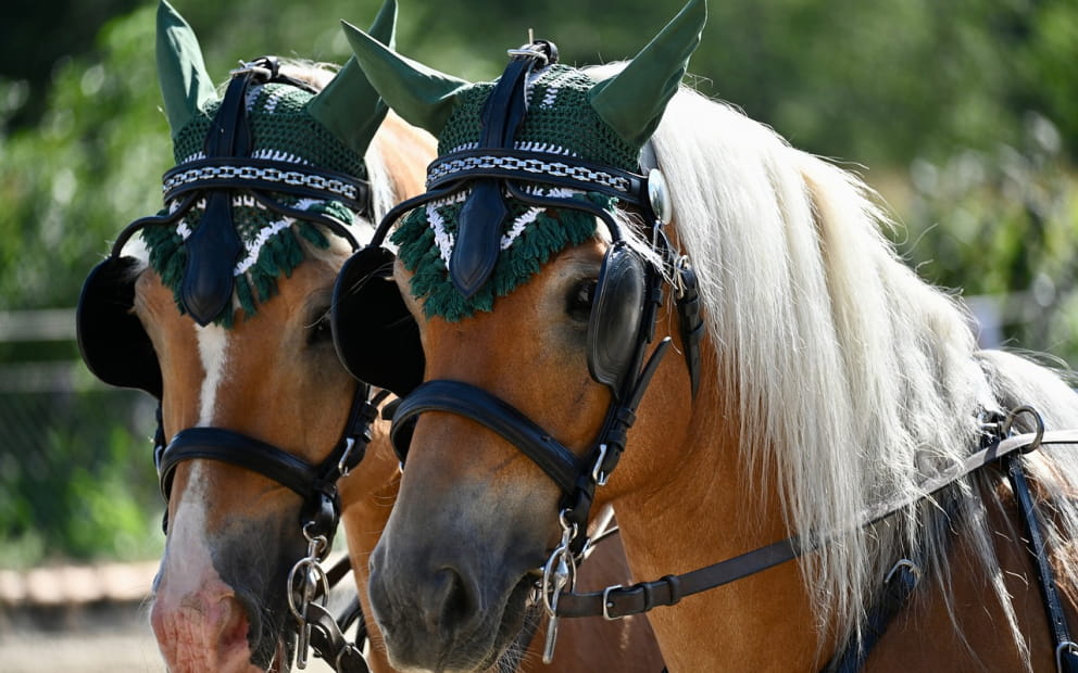
[[[202,61],[195,30],[171,4],[158,5],[158,79],[173,136],[187,126],[217,93]]]

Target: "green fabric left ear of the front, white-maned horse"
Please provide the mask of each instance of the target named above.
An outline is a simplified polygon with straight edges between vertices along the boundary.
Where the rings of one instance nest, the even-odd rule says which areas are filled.
[[[409,124],[441,132],[457,93],[471,82],[405,59],[348,22],[341,24],[360,66],[389,106]]]

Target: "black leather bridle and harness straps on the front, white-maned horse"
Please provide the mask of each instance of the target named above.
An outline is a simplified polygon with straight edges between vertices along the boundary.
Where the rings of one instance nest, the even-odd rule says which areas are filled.
[[[651,168],[647,176],[561,154],[512,149],[513,131],[526,114],[527,76],[534,68],[556,61],[556,49],[549,42],[538,41],[512,50],[510,55],[510,64],[484,107],[482,141],[479,147],[436,160],[428,168],[427,193],[399,204],[386,215],[369,245],[353,255],[342,269],[334,291],[334,306],[337,309],[331,320],[334,343],[342,361],[361,379],[372,380],[367,376],[377,372],[368,370],[371,365],[364,360],[369,358],[363,358],[361,350],[363,340],[372,339],[371,332],[367,335],[358,333],[349,325],[349,312],[342,308],[366,305],[363,296],[369,283],[365,285],[363,280],[369,278],[375,269],[380,269],[384,280],[390,278],[391,270],[387,269],[392,266],[393,255],[383,249],[381,243],[396,220],[416,206],[446,199],[455,192],[472,190],[461,211],[456,250],[449,263],[452,281],[464,295],[481,284],[497,258],[497,234],[505,213],[503,194],[527,205],[584,211],[606,225],[612,242],[603,258],[591,309],[587,360],[592,379],[610,390],[611,402],[601,430],[582,458],[554,440],[551,433],[525,414],[482,389],[452,380],[421,383],[422,372],[394,382],[394,391],[406,395],[396,408],[391,429],[391,439],[402,466],[417,417],[426,411],[447,411],[464,416],[498,433],[527,455],[561,488],[559,522],[562,537],[542,568],[538,587],[549,618],[543,653],[543,660],[549,662],[560,618],[602,615],[614,620],[659,606],[673,606],[685,596],[716,588],[799,558],[828,544],[836,535],[822,533],[812,539],[790,537],[689,573],[666,575],[632,586],[609,586],[601,592],[574,593],[576,564],[587,547],[585,531],[596,488],[606,483],[617,466],[626,446],[626,434],[636,418],[637,406],[670,344],[669,338],[662,340],[652,355],[645,357],[654,338],[666,279],[670,279],[675,293],[693,394],[699,385],[699,341],[703,320],[691,264],[673,250],[665,233],[670,208],[650,144],[641,153],[641,165]],[[645,238],[650,241],[654,257],[661,263],[655,264],[652,256],[637,252],[606,209],[585,200],[538,196],[523,188],[522,183],[568,187],[617,199],[642,215]],[[374,333],[380,333],[377,338],[384,341],[392,340],[394,333],[411,333],[415,329],[410,325],[411,317],[402,300],[393,296],[391,293],[381,296],[387,307],[387,318],[383,326],[379,327],[377,320],[373,326]],[[368,323],[367,330],[371,327]],[[400,354],[404,348],[414,346],[401,344],[399,347]],[[1015,415],[1030,411],[1020,408],[1012,412],[1005,422],[998,424],[998,432],[990,433],[981,450],[955,469],[923,484],[923,495],[876,507],[864,513],[860,524],[876,523],[985,466],[1003,461],[1012,474],[1024,523],[1033,541],[1030,553],[1037,563],[1052,626],[1057,668],[1060,671],[1078,671],[1078,645],[1070,639],[1067,630],[1021,468],[1023,453],[1045,444],[1078,443],[1078,432],[1046,433],[1039,416],[1033,412],[1037,432],[1012,435],[1011,424]],[[867,635],[849,643],[847,649],[839,652],[825,670],[860,670],[878,636],[913,592],[918,577],[919,569],[914,562],[908,559],[898,561],[875,601]]]

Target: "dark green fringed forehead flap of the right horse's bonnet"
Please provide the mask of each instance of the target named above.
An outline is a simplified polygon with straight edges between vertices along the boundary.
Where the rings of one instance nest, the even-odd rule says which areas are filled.
[[[616,200],[597,192],[575,196],[587,199],[603,209],[613,212]],[[455,236],[457,215],[462,203],[439,208],[446,220],[447,232]],[[524,206],[511,208],[506,226],[524,212]],[[596,233],[596,218],[580,211],[544,211],[503,250],[487,282],[472,297],[465,297],[453,287],[449,269],[435,244],[434,230],[427,221],[426,209],[413,211],[393,232],[392,242],[398,246],[398,257],[404,268],[414,275],[412,295],[425,297],[424,314],[431,318],[441,316],[450,322],[469,318],[476,312],[493,309],[494,299],[505,296],[528,279],[554,254],[579,245]]]

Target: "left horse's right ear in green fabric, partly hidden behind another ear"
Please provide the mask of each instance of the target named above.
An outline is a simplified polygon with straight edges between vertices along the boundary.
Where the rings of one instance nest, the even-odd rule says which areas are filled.
[[[371,35],[392,49],[396,33],[397,0],[386,0],[371,25]],[[389,111],[354,56],[308,103],[306,110],[358,154],[367,151],[371,139]]]

